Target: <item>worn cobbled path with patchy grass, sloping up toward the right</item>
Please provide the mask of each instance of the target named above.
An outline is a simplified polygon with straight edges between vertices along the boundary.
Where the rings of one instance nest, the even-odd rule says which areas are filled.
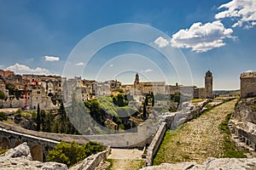
[[[234,111],[236,99],[218,105],[197,119],[187,122],[177,132],[166,132],[154,164],[161,162],[196,161],[202,163],[207,157],[220,157],[224,134],[219,124]]]

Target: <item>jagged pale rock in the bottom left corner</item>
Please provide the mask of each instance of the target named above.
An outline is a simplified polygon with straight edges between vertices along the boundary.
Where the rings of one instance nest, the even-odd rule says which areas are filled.
[[[26,142],[18,145],[0,156],[0,169],[44,169],[67,170],[67,165],[57,162],[32,161],[32,156]]]

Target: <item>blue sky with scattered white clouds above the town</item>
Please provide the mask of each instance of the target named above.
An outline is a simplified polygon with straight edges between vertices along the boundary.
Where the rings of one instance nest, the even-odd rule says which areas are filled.
[[[129,83],[139,72],[145,81],[203,87],[205,72],[210,70],[214,89],[238,89],[241,72],[256,70],[254,0],[0,0],[0,4],[0,68],[16,73],[65,75],[71,69],[84,78]],[[154,37],[148,31],[148,37],[155,38],[148,44],[115,42],[102,47],[90,62],[84,62],[84,54],[69,65],[84,37],[122,23],[143,24],[162,33]],[[91,45],[109,37],[102,36]],[[147,39],[140,34],[133,37]],[[183,65],[167,64],[158,52],[166,48],[186,62],[183,65],[191,77],[181,73],[186,70]]]

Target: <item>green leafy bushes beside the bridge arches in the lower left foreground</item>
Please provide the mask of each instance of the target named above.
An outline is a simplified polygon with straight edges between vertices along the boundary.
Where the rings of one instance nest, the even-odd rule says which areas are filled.
[[[77,162],[84,160],[84,158],[103,150],[106,150],[106,146],[92,141],[83,145],[76,144],[75,142],[71,144],[61,142],[55,145],[54,150],[49,151],[47,160],[65,163],[67,167],[71,167]]]

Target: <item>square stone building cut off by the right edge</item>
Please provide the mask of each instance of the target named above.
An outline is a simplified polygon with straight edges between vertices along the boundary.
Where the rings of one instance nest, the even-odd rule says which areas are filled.
[[[240,76],[241,98],[256,96],[256,71],[241,73]]]

